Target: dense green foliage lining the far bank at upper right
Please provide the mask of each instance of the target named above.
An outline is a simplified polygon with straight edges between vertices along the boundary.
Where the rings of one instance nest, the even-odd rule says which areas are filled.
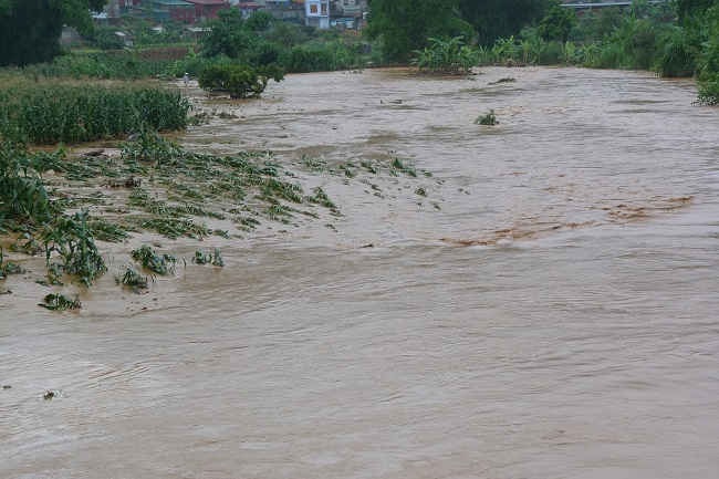
[[[552,7],[536,27],[480,46],[481,63],[579,64],[697,76],[700,101],[719,103],[719,1],[684,0],[574,12]]]

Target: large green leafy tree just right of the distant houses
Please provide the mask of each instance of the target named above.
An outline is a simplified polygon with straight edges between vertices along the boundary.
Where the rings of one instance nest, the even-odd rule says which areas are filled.
[[[371,38],[384,40],[389,60],[406,61],[429,38],[471,38],[459,18],[459,0],[369,0]]]

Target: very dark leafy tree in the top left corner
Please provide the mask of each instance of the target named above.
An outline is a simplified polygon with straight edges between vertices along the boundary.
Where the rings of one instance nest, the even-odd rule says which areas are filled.
[[[0,65],[51,60],[60,51],[63,24],[90,34],[90,10],[105,0],[0,0]]]

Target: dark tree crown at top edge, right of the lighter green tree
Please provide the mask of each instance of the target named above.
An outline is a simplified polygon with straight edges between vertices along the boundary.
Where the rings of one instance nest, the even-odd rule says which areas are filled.
[[[549,0],[459,0],[463,19],[477,29],[479,43],[484,45],[517,34],[544,17],[550,6]]]

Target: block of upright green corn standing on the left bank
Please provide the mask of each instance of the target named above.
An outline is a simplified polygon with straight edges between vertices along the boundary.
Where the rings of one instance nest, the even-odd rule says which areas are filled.
[[[123,137],[187,126],[189,102],[148,85],[11,82],[0,88],[0,135],[33,144]]]

